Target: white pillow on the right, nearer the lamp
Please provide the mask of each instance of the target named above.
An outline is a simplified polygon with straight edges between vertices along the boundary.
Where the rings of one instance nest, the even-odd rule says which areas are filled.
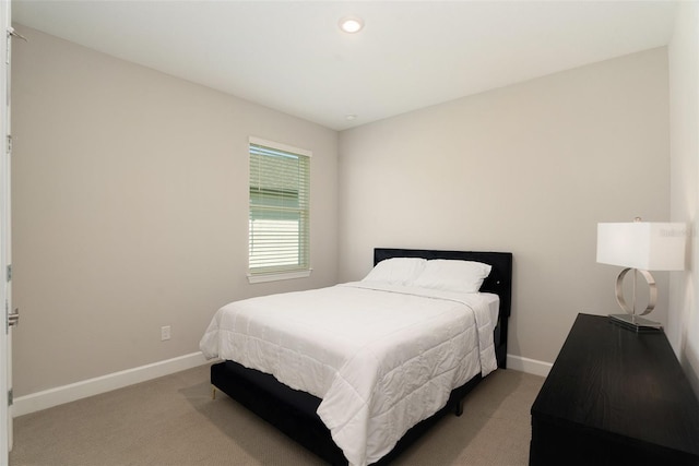
[[[477,292],[483,280],[490,274],[490,268],[493,268],[490,265],[481,262],[434,259],[427,261],[425,270],[413,282],[413,286]]]

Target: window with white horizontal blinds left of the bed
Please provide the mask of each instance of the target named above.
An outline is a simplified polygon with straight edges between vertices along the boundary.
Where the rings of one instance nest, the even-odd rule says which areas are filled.
[[[309,151],[250,138],[249,279],[310,274]]]

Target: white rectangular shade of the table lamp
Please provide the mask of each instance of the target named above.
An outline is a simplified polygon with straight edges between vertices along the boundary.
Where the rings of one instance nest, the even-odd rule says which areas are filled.
[[[683,271],[686,238],[685,224],[597,224],[597,262],[643,271]]]

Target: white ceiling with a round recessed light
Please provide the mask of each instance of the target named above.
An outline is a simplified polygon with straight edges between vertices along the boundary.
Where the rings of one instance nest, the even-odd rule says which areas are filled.
[[[664,46],[675,16],[670,1],[13,0],[12,9],[16,23],[335,130]],[[359,34],[340,32],[347,15],[364,19]]]

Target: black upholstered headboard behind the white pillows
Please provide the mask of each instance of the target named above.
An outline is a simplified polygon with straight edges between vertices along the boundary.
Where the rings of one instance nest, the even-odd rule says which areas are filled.
[[[391,258],[450,259],[475,261],[489,264],[490,275],[483,282],[481,291],[494,292],[500,297],[500,315],[496,327],[496,354],[498,366],[505,368],[507,356],[508,318],[512,310],[512,253],[483,251],[435,251],[429,249],[376,248],[374,265]]]

